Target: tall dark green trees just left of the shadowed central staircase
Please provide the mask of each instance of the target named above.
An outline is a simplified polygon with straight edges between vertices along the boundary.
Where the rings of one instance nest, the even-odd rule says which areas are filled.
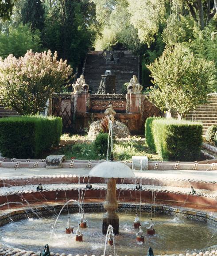
[[[72,66],[81,63],[96,34],[95,9],[88,0],[58,0],[46,16],[43,43]]]

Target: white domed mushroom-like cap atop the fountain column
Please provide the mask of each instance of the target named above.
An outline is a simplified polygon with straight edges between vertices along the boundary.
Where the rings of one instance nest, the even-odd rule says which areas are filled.
[[[134,172],[124,163],[120,162],[103,162],[94,166],[89,176],[100,178],[133,178]]]

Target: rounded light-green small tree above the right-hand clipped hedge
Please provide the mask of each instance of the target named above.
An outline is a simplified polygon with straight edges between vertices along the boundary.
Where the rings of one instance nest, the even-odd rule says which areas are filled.
[[[162,111],[174,111],[184,117],[205,103],[207,93],[212,91],[214,63],[197,58],[183,44],[167,47],[148,68],[155,85],[150,101]]]

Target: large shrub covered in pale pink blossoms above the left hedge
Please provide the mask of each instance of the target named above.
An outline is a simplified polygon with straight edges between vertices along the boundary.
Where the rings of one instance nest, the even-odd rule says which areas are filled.
[[[0,104],[21,115],[42,112],[51,93],[69,82],[72,68],[50,50],[0,58]]]

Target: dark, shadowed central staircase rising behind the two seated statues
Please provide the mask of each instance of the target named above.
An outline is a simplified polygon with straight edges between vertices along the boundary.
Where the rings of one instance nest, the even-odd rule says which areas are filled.
[[[89,84],[93,93],[97,93],[100,85],[101,75],[105,70],[111,70],[116,75],[116,93],[121,93],[121,87],[129,82],[132,75],[139,75],[139,57],[133,55],[132,51],[121,51],[117,62],[106,60],[103,51],[90,51],[85,63],[85,82]]]

